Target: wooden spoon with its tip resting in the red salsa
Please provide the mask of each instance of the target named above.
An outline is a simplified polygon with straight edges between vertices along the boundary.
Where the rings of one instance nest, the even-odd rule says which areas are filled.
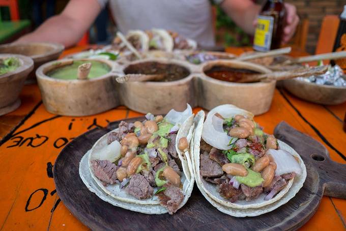
[[[257,82],[257,81],[270,81],[270,80],[283,80],[295,77],[308,77],[311,75],[321,75],[326,73],[328,66],[318,66],[301,68],[293,71],[277,71],[265,74],[251,74],[244,75],[238,79],[237,82]]]

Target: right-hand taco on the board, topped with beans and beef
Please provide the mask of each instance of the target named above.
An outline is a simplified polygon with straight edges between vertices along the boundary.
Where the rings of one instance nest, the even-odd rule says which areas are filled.
[[[302,187],[303,160],[286,143],[265,134],[252,113],[225,104],[204,118],[203,111],[195,118],[193,168],[198,188],[218,210],[233,216],[262,214],[289,192],[295,178],[289,197]]]

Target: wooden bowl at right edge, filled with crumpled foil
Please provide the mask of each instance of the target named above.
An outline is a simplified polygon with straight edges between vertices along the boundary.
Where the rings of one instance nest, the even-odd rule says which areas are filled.
[[[320,85],[298,79],[284,80],[283,86],[293,95],[309,102],[325,105],[346,102],[346,87]]]

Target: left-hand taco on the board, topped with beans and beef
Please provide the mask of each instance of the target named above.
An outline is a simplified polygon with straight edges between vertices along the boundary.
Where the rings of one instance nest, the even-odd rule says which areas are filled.
[[[192,125],[190,105],[183,112],[172,109],[165,117],[148,113],[144,121],[122,121],[86,154],[89,159],[81,161],[80,176],[91,191],[113,205],[173,214],[185,205],[193,188]],[[92,183],[82,170],[85,163]]]

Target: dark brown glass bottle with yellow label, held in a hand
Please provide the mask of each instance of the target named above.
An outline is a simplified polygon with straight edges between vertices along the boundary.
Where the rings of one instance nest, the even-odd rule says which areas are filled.
[[[283,0],[268,0],[257,17],[253,49],[268,51],[279,48],[285,22]]]

